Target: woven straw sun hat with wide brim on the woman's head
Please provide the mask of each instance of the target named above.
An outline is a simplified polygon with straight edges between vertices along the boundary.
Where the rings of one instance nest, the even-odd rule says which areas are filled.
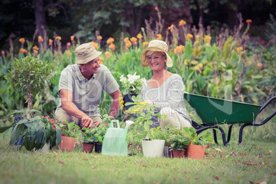
[[[172,67],[172,58],[168,55],[168,45],[164,41],[154,40],[150,41],[148,48],[144,49],[141,53],[141,65],[142,67],[148,67],[148,60],[146,54],[148,51],[163,51],[167,56],[166,65]]]

